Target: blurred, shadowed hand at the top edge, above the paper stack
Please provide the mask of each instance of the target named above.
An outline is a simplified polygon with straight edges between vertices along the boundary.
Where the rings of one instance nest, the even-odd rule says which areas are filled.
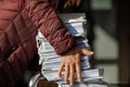
[[[64,4],[64,8],[69,8],[69,7],[73,7],[73,5],[78,7],[80,4],[80,2],[81,2],[81,0],[66,0],[65,4]]]

